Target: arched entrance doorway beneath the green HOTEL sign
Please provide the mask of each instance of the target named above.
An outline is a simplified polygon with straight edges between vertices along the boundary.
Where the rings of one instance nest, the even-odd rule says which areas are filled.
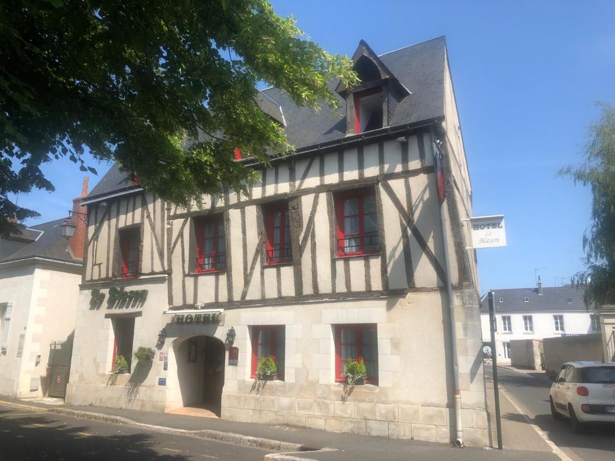
[[[192,336],[173,347],[183,408],[174,413],[220,417],[224,386],[224,343],[213,336]]]

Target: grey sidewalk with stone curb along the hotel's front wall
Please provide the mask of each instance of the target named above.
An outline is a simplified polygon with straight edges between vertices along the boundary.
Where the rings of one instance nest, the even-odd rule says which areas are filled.
[[[543,450],[519,451],[485,449],[479,447],[453,448],[448,444],[429,443],[414,440],[397,440],[346,433],[332,433],[320,430],[285,426],[269,426],[253,423],[230,422],[220,419],[200,418],[177,414],[151,413],[95,406],[49,406],[44,403],[23,402],[15,398],[0,396],[0,404],[22,405],[49,413],[66,414],[82,419],[105,421],[112,424],[130,424],[148,430],[177,431],[183,435],[208,437],[207,431],[219,431],[229,437],[226,441],[256,445],[260,439],[267,439],[267,446],[278,451],[304,451],[268,455],[266,459],[301,459],[336,461],[352,459],[368,460],[434,460],[454,457],[455,460],[549,460],[555,455]],[[191,432],[184,432],[191,431]],[[192,432],[194,431],[194,432]],[[235,438],[232,435],[237,435]],[[178,433],[178,435],[182,435]],[[220,439],[220,438],[218,438]],[[275,443],[278,443],[275,447]],[[271,443],[274,443],[273,445]],[[282,444],[280,446],[279,444]],[[284,444],[287,444],[284,446]],[[294,447],[294,449],[293,449]],[[330,451],[306,451],[328,447]],[[529,448],[531,449],[531,448]]]

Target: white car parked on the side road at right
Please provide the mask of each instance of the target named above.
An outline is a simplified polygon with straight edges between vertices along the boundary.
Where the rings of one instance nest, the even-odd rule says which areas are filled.
[[[615,422],[615,362],[566,362],[549,379],[551,414],[567,417],[574,432],[588,422]]]

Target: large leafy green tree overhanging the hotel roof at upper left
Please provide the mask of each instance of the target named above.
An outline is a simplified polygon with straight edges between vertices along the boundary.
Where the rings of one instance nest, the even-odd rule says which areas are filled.
[[[53,191],[41,165],[89,151],[114,160],[175,203],[226,187],[292,151],[255,103],[267,82],[312,109],[338,99],[330,81],[357,82],[266,0],[5,0],[0,3],[0,213],[36,216],[9,194]],[[0,233],[15,225],[0,219]]]

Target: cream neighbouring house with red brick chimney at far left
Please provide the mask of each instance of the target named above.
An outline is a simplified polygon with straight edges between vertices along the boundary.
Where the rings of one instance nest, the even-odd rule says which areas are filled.
[[[84,181],[82,195],[87,194]],[[73,211],[81,210],[81,197]],[[85,207],[83,208],[85,211]],[[73,218],[71,242],[65,219],[0,237],[0,394],[63,396],[81,282],[85,222]],[[54,364],[48,369],[51,342]],[[66,363],[60,363],[61,358]],[[58,379],[58,375],[60,378]]]

